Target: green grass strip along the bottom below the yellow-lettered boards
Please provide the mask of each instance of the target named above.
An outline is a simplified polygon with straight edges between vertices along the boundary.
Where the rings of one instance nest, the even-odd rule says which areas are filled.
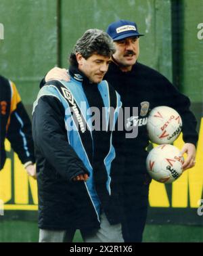
[[[37,242],[39,230],[33,221],[0,221],[0,242]],[[74,242],[82,242],[77,230]],[[201,226],[147,225],[143,242],[203,242]]]

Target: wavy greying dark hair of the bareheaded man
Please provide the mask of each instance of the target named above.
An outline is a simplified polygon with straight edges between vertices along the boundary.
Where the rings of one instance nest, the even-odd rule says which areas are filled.
[[[74,50],[70,54],[70,64],[78,66],[76,53],[80,53],[86,60],[93,54],[111,57],[116,51],[114,41],[104,31],[97,28],[87,30],[83,36],[76,41]]]

